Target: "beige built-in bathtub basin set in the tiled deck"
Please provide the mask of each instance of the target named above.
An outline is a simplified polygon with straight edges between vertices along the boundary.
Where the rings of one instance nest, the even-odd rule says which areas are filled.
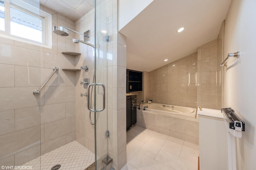
[[[157,104],[157,103],[145,103],[140,105],[140,109],[143,110],[145,107],[146,111],[152,113],[165,115],[165,116],[182,116],[196,118],[196,108],[191,107],[181,107],[181,106],[172,106],[167,104]]]

